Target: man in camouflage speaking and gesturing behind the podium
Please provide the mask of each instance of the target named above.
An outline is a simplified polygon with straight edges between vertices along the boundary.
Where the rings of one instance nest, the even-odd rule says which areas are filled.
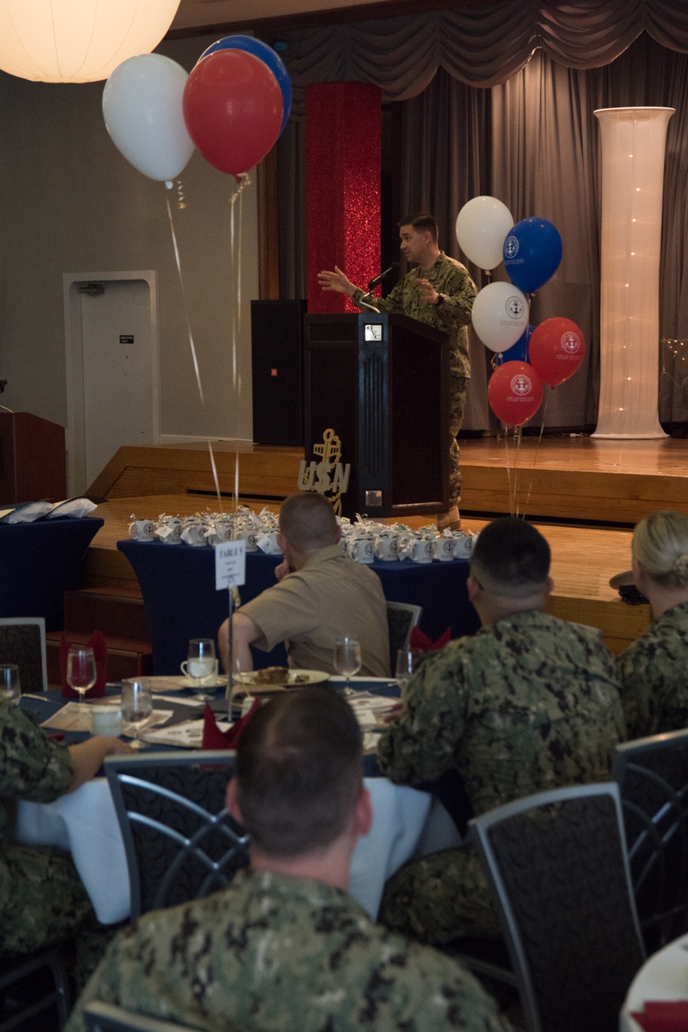
[[[348,294],[359,308],[379,312],[401,312],[412,319],[435,326],[449,334],[451,409],[450,409],[450,481],[449,509],[437,519],[437,526],[459,526],[458,503],[461,497],[459,446],[456,436],[463,422],[466,383],[470,379],[467,324],[477,288],[467,268],[448,258],[437,246],[437,223],[429,212],[413,212],[399,223],[400,250],[417,268],[407,272],[387,297],[365,293],[347,279],[340,268],[319,273],[323,290]]]

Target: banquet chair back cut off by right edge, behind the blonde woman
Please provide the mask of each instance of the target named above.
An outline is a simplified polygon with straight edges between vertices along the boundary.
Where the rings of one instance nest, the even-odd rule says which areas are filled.
[[[688,916],[688,730],[618,745],[630,876],[648,953],[686,931]]]

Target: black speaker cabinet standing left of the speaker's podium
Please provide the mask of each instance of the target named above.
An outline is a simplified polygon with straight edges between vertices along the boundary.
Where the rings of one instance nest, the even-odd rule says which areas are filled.
[[[303,444],[303,316],[306,302],[252,301],[253,437]]]

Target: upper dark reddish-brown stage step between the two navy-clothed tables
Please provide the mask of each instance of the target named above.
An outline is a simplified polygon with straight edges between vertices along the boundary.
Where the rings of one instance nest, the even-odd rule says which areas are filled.
[[[102,631],[113,638],[150,641],[149,621],[136,581],[129,586],[65,591],[64,614],[64,625],[70,631],[85,634]]]

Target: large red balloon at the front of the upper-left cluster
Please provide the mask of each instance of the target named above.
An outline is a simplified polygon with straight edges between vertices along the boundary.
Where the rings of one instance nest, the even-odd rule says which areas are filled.
[[[199,61],[183,106],[205,160],[234,176],[261,161],[280,135],[280,85],[265,62],[245,51],[216,51]]]

